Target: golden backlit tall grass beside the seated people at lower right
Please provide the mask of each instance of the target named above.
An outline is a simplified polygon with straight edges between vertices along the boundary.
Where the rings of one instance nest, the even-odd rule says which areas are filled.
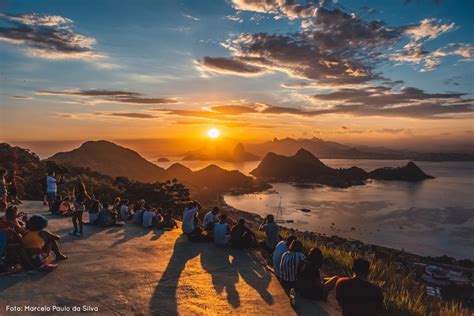
[[[283,232],[285,237],[289,232]],[[352,260],[358,254],[337,246],[327,246],[302,240],[306,253],[318,247],[324,256],[323,269],[339,276],[349,276]],[[425,294],[425,287],[413,274],[402,275],[393,263],[371,260],[370,281],[379,285],[384,293],[387,315],[469,316],[469,310],[459,303],[433,299]]]

